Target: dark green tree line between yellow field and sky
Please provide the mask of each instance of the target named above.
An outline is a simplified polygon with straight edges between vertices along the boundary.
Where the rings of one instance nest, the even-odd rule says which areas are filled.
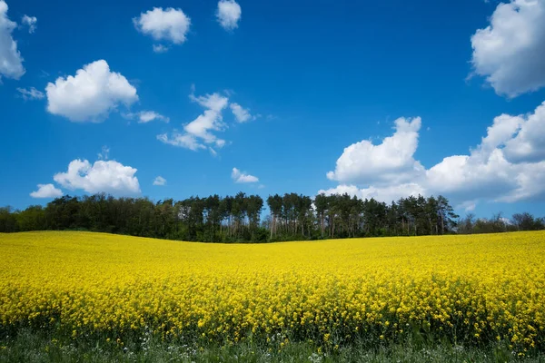
[[[270,214],[262,218],[265,203]],[[0,208],[0,232],[103,231],[141,237],[203,242],[265,242],[378,236],[542,230],[544,220],[529,213],[512,221],[460,218],[443,196],[401,198],[390,204],[348,194],[259,195],[239,192],[174,201],[114,198],[104,193],[64,195],[45,207]]]

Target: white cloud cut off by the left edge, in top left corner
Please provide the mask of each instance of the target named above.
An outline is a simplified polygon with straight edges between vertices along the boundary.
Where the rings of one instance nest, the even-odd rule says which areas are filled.
[[[25,74],[23,57],[17,50],[17,42],[12,37],[17,24],[7,17],[7,9],[5,1],[0,0],[0,80],[2,76],[19,79]]]

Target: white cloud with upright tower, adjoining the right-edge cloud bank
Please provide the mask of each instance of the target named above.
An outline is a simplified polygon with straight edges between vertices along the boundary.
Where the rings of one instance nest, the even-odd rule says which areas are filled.
[[[413,159],[418,147],[421,118],[399,118],[395,132],[381,144],[363,140],[344,149],[334,172],[328,172],[332,181],[342,183],[402,183],[423,171],[420,162]]]

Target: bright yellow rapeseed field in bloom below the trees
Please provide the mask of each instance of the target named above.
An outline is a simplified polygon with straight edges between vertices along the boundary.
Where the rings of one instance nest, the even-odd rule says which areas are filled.
[[[545,233],[261,245],[0,234],[0,329],[20,326],[331,348],[416,327],[542,349]]]

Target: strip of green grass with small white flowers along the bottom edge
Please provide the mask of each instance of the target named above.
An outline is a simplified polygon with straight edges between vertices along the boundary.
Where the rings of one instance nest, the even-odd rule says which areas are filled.
[[[426,347],[411,341],[377,347],[356,342],[328,352],[319,352],[309,343],[293,343],[281,350],[249,343],[199,348],[153,338],[122,347],[102,339],[57,340],[42,331],[22,329],[16,337],[0,338],[0,362],[545,362],[545,354],[517,357],[502,345]]]

